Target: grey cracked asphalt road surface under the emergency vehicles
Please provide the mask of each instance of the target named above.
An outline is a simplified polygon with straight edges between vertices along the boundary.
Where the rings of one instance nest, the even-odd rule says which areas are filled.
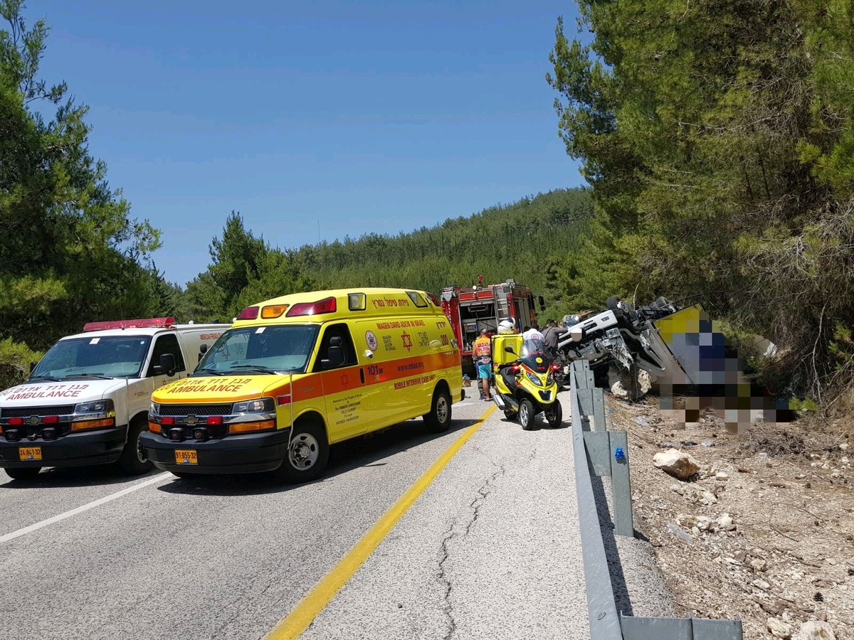
[[[264,637],[488,407],[337,445],[302,486],[0,472],[0,638]],[[495,412],[305,637],[585,636],[572,480],[570,429]]]

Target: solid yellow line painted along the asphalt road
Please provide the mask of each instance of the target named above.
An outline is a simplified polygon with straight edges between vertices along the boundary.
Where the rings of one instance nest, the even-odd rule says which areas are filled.
[[[353,577],[353,574],[359,570],[365,561],[371,556],[373,550],[383,542],[392,528],[395,527],[397,521],[403,517],[405,513],[412,507],[412,504],[418,499],[424,489],[430,486],[433,480],[443,468],[451,461],[451,458],[457,451],[465,445],[466,441],[471,438],[477,429],[483,426],[483,422],[492,414],[495,406],[491,406],[483,412],[483,415],[477,419],[471,427],[465,429],[463,434],[442,453],[435,463],[430,465],[424,474],[416,480],[407,492],[404,493],[391,508],[385,512],[382,518],[371,527],[359,542],[354,544],[353,548],[347,552],[347,555],[326,574],[325,578],[320,580],[317,585],[314,585],[312,591],[302,598],[301,602],[296,605],[293,611],[288,614],[288,617],[276,625],[276,628],[270,631],[267,640],[285,640],[286,638],[299,637],[302,631],[312,624],[312,621],[318,614],[324,610],[330,600],[335,597],[338,591],[341,591],[342,586],[347,584],[347,581]]]

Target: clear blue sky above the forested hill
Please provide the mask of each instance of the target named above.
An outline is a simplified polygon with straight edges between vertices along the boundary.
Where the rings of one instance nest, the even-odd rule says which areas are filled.
[[[184,284],[232,209],[278,247],[432,226],[582,183],[544,79],[564,2],[29,0],[41,76]]]

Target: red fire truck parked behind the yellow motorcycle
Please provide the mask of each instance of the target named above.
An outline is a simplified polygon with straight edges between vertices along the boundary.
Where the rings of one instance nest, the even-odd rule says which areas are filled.
[[[506,317],[516,320],[518,329],[536,322],[535,297],[528,287],[513,280],[501,284],[476,284],[471,287],[452,285],[442,289],[442,311],[451,321],[463,358],[463,372],[474,377],[471,343],[481,329],[496,333],[498,323]],[[544,308],[542,296],[540,308]]]

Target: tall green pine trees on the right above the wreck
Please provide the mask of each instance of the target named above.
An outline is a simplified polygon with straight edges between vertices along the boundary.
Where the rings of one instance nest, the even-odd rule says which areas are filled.
[[[832,399],[854,373],[854,4],[578,6],[547,76],[596,208],[570,302],[699,294]]]

